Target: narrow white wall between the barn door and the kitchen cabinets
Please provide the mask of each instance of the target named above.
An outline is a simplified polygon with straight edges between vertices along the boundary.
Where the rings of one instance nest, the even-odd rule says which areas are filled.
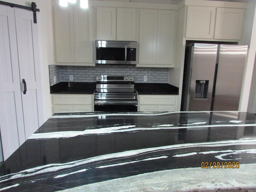
[[[54,64],[51,0],[33,0],[31,2],[28,2],[28,0],[5,1],[23,6],[31,6],[31,2],[35,2],[36,8],[40,9],[40,12],[37,12],[37,23],[39,32],[44,121],[46,121],[51,116],[50,80],[48,65]]]

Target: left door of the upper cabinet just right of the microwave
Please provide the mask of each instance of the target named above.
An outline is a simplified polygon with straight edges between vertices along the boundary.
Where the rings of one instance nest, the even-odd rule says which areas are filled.
[[[156,64],[157,10],[140,10],[139,64]]]

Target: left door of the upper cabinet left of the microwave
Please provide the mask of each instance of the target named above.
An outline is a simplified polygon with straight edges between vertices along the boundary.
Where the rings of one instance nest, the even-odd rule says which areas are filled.
[[[56,62],[75,62],[73,8],[53,7]]]

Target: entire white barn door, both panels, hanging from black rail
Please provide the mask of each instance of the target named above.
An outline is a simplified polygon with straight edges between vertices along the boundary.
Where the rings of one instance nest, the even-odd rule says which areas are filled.
[[[0,5],[0,133],[4,160],[42,124],[37,38],[31,11]],[[22,79],[27,82],[26,94]]]

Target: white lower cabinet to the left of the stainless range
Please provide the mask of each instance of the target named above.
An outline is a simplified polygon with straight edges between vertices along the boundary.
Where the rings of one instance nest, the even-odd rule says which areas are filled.
[[[93,94],[52,94],[52,113],[94,111]]]

